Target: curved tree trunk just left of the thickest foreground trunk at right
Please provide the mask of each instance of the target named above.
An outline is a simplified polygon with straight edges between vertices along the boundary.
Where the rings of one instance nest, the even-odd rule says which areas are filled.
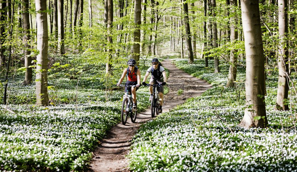
[[[238,39],[238,32],[236,26],[233,24],[236,22],[236,8],[237,8],[237,0],[230,0],[230,7],[232,10],[232,17],[230,17],[230,41],[235,42]],[[228,81],[226,87],[233,87],[234,81],[236,80],[237,73],[237,50],[233,49],[230,53],[230,66],[229,66],[229,74]]]

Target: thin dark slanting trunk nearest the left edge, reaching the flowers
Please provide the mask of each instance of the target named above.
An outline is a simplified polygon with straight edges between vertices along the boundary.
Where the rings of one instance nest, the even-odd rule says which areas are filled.
[[[15,11],[15,7],[14,7],[14,4],[15,4],[15,1],[13,1],[12,3],[12,13],[11,13],[11,9],[8,9],[7,10],[7,14],[9,13],[8,11],[10,11],[10,19],[8,21],[11,21],[10,23],[10,29],[8,29],[8,39],[10,40],[10,44],[8,46],[8,51],[9,51],[9,54],[8,54],[8,58],[7,58],[7,65],[6,65],[6,72],[5,72],[5,85],[4,85],[4,98],[3,98],[3,102],[4,104],[7,104],[7,85],[8,85],[8,72],[9,72],[9,67],[10,67],[10,60],[11,60],[11,44],[12,44],[12,31],[13,31],[13,16],[14,16],[14,11]],[[7,7],[11,7],[11,2],[8,1],[7,3]]]

